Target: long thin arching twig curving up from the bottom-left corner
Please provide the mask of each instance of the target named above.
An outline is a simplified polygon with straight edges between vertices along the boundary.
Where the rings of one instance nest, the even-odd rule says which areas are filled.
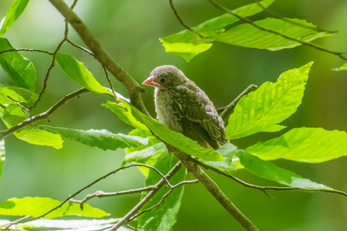
[[[120,171],[120,170],[122,170],[122,169],[130,168],[130,167],[133,167],[133,166],[141,166],[141,167],[145,167],[145,168],[149,168],[149,169],[154,170],[156,173],[158,173],[158,174],[162,177],[162,179],[161,179],[159,182],[163,182],[163,185],[164,185],[164,184],[167,184],[167,185],[170,187],[170,189],[173,187],[173,186],[169,183],[168,178],[167,178],[166,176],[164,176],[158,169],[156,169],[156,168],[154,168],[154,167],[152,167],[152,166],[150,166],[150,165],[145,165],[145,164],[142,164],[142,163],[132,163],[132,164],[130,164],[130,165],[126,165],[126,166],[124,166],[124,167],[117,168],[116,170],[114,170],[114,171],[112,171],[112,172],[109,172],[108,174],[106,174],[106,175],[100,177],[99,179],[94,180],[91,184],[89,184],[89,185],[83,187],[82,189],[78,190],[76,193],[74,193],[73,195],[69,196],[65,201],[63,201],[62,203],[60,203],[58,206],[52,208],[50,211],[46,212],[45,214],[42,214],[41,216],[35,217],[35,218],[30,219],[30,220],[27,220],[27,221],[25,221],[25,222],[14,222],[14,223],[11,223],[11,224],[26,223],[26,222],[28,222],[28,221],[35,221],[35,220],[37,220],[37,219],[40,219],[40,218],[46,216],[47,214],[50,214],[50,213],[53,212],[54,210],[57,210],[58,208],[60,208],[62,205],[64,205],[66,202],[68,202],[71,198],[73,198],[73,197],[75,197],[76,195],[78,195],[79,193],[81,193],[84,189],[91,187],[92,185],[98,183],[100,180],[105,179],[105,178],[107,178],[108,176],[110,176],[110,175],[112,175],[112,174],[115,174],[116,172],[118,172],[118,171]],[[158,182],[158,183],[159,183],[159,182]],[[157,187],[158,183],[155,184],[155,187]],[[152,191],[154,191],[154,190],[155,190],[155,189],[153,189]],[[159,190],[159,189],[158,189],[158,190]],[[152,191],[151,191],[151,192],[152,192]]]

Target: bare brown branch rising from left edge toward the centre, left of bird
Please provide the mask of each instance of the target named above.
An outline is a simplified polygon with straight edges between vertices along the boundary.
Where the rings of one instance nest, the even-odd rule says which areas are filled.
[[[31,125],[35,123],[36,121],[40,121],[42,119],[49,119],[49,117],[61,106],[66,104],[68,101],[74,98],[78,98],[81,94],[84,94],[86,92],[89,92],[86,88],[81,88],[77,91],[74,91],[66,96],[64,96],[61,100],[59,100],[56,104],[54,104],[50,109],[48,109],[46,112],[43,112],[39,115],[32,116],[25,121],[17,124],[16,126],[10,127],[6,130],[0,131],[0,140],[4,139],[6,136],[23,129],[24,127]]]

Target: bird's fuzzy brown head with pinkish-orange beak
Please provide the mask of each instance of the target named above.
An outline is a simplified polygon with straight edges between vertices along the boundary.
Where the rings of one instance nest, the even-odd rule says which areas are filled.
[[[176,66],[158,66],[142,84],[165,90],[185,83],[186,77]]]

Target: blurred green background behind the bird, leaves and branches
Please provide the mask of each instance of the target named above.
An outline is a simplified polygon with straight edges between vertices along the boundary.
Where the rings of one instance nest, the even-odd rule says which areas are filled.
[[[71,4],[70,1],[66,1]],[[253,1],[219,1],[230,9]],[[12,0],[0,1],[0,17],[4,17]],[[175,0],[179,15],[189,26],[219,16],[223,12],[208,1]],[[289,18],[306,19],[320,28],[339,30],[334,36],[321,38],[315,43],[334,51],[347,50],[346,0],[277,0],[271,9]],[[343,64],[337,56],[299,46],[281,51],[258,50],[214,42],[210,50],[197,55],[189,63],[183,58],[164,52],[158,38],[174,34],[184,28],[170,9],[168,0],[87,0],[78,1],[75,11],[89,27],[103,48],[138,82],[145,80],[156,66],[171,64],[205,90],[216,107],[225,106],[249,84],[261,85],[276,81],[289,69],[314,61],[307,82],[303,103],[297,112],[282,124],[287,129],[276,133],[261,133],[233,141],[246,148],[257,141],[265,141],[293,127],[323,127],[327,130],[347,131],[347,72],[331,71]],[[268,17],[260,13],[252,20]],[[47,0],[32,0],[4,37],[16,48],[37,48],[54,51],[64,36],[64,18]],[[70,28],[69,38],[83,45]],[[90,55],[65,44],[62,52],[69,53],[86,67],[104,86],[108,86],[100,64]],[[47,54],[22,53],[37,70],[36,92],[51,58]],[[125,88],[112,77],[116,91],[127,96]],[[0,71],[0,82],[9,82]],[[48,81],[46,93],[33,114],[47,110],[64,94],[79,86],[56,66]],[[150,114],[155,117],[153,89],[142,94]],[[107,96],[86,94],[74,99],[51,117],[51,126],[77,129],[107,129],[114,133],[128,133],[130,126],[122,123],[110,110],[100,106]],[[47,124],[47,122],[44,122]],[[5,128],[3,124],[0,125]],[[64,139],[63,148],[56,150],[35,146],[11,135],[6,138],[6,163],[0,179],[0,202],[25,196],[51,197],[64,200],[100,176],[119,167],[124,151],[102,151]],[[279,166],[295,171],[305,178],[332,188],[347,191],[347,158],[320,164],[278,160]],[[337,194],[305,192],[262,192],[245,188],[234,181],[209,172],[226,195],[260,230],[346,230],[347,199]],[[237,177],[248,183],[263,186],[279,184],[239,170]],[[189,179],[189,177],[188,177]],[[136,168],[127,169],[85,190],[83,198],[96,190],[115,192],[142,187],[144,177]],[[113,198],[94,198],[89,203],[112,213],[114,217],[126,214],[139,199],[138,194]],[[10,217],[0,216],[0,219]],[[174,230],[243,230],[202,185],[188,185]]]

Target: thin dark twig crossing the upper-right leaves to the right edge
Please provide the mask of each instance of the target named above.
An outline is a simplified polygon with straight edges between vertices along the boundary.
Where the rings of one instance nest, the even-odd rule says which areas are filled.
[[[344,57],[344,56],[342,55],[342,54],[344,54],[344,52],[330,51],[330,50],[328,50],[327,48],[321,47],[321,46],[316,45],[316,44],[314,44],[314,43],[304,42],[304,41],[301,41],[301,40],[299,40],[299,39],[292,38],[292,37],[289,37],[289,36],[287,36],[287,35],[281,34],[281,33],[277,32],[277,31],[275,31],[275,30],[266,29],[266,28],[264,28],[264,27],[261,27],[261,26],[256,25],[252,20],[250,20],[250,19],[248,19],[248,18],[245,18],[245,17],[239,16],[238,14],[235,14],[234,12],[232,12],[232,10],[230,10],[230,9],[228,9],[228,8],[226,8],[226,7],[220,5],[220,4],[218,4],[218,3],[216,3],[216,2],[214,2],[214,1],[212,1],[212,0],[208,0],[208,1],[211,2],[213,6],[219,8],[219,9],[225,11],[225,12],[227,12],[228,14],[234,15],[234,16],[237,17],[238,19],[243,20],[243,21],[245,21],[245,22],[248,23],[248,24],[251,24],[251,25],[254,26],[255,28],[258,28],[258,29],[263,30],[263,31],[266,31],[266,32],[270,32],[270,33],[272,33],[272,34],[279,35],[279,36],[281,36],[281,37],[283,37],[283,38],[286,38],[286,39],[289,39],[289,40],[291,40],[291,41],[295,41],[295,42],[304,44],[304,45],[306,45],[306,46],[311,46],[311,47],[313,47],[313,48],[315,48],[315,49],[318,49],[318,50],[321,50],[321,51],[324,51],[324,52],[327,52],[327,53],[330,53],[330,54],[335,54],[335,55],[339,56],[341,59],[347,60],[347,57]]]

